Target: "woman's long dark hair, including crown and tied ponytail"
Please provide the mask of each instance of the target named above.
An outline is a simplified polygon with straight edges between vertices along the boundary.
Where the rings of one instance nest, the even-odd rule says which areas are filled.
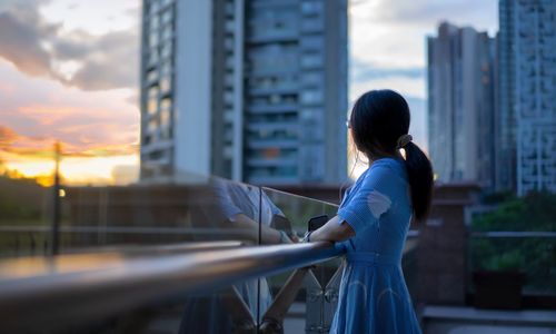
[[[396,91],[371,90],[355,102],[349,124],[358,150],[370,160],[391,156],[398,149],[398,139],[409,130],[409,106]],[[415,218],[426,218],[433,197],[433,166],[413,141],[404,147],[405,164]]]

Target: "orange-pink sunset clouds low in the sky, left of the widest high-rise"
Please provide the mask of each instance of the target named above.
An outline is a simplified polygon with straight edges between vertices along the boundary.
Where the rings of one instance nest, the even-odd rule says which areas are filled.
[[[0,155],[51,157],[54,141],[75,157],[137,154],[139,112],[126,99],[131,89],[82,91],[29,78],[0,60]]]

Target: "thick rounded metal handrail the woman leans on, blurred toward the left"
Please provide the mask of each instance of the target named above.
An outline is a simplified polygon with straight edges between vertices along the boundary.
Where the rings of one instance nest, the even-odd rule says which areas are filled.
[[[309,266],[341,255],[329,243],[239,247],[159,257],[118,253],[0,262],[2,330],[37,330],[91,321],[163,298],[214,291],[242,279]],[[33,268],[31,274],[26,271]],[[37,268],[42,268],[37,272]]]

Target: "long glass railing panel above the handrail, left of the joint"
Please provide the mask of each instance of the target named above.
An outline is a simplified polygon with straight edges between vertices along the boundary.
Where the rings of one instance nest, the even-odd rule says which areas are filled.
[[[206,242],[259,244],[261,190],[246,184],[177,174],[126,186],[60,185],[56,198],[53,187],[32,185],[3,202],[11,208],[0,217],[3,258],[43,256],[53,248],[64,254]]]

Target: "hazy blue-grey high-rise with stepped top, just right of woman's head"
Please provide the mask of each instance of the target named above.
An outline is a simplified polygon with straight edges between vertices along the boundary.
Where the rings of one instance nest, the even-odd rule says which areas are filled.
[[[494,186],[494,55],[486,32],[443,22],[428,38],[428,136],[439,181]]]

